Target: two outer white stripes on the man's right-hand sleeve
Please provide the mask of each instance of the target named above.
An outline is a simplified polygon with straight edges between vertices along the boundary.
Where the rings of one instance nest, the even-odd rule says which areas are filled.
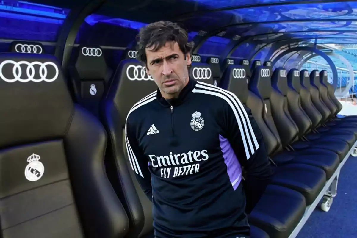
[[[256,150],[258,150],[258,148],[259,148],[259,143],[258,143],[258,141],[257,141],[257,138],[255,137],[255,134],[254,134],[252,125],[251,125],[251,123],[250,123],[250,120],[249,120],[247,111],[244,109],[244,106],[243,106],[242,102],[238,99],[238,97],[237,97],[234,93],[232,93],[232,92],[230,92],[230,91],[227,91],[227,90],[224,90],[224,89],[222,89],[222,88],[220,88],[220,87],[213,86],[213,85],[210,85],[210,84],[204,83],[204,82],[198,82],[198,83],[196,84],[196,86],[197,86],[197,87],[200,87],[200,88],[202,88],[202,86],[199,85],[199,84],[202,84],[202,85],[207,86],[210,90],[213,90],[213,91],[216,91],[216,92],[221,92],[221,93],[223,93],[224,95],[226,95],[228,98],[230,98],[230,99],[233,101],[234,105],[236,106],[236,108],[237,108],[237,110],[239,111],[239,113],[240,113],[240,115],[241,115],[241,118],[242,118],[242,120],[243,120],[244,128],[245,128],[245,131],[246,131],[246,133],[247,133],[247,137],[249,137],[249,139],[250,139],[250,140],[249,140],[249,142],[250,142],[249,145],[250,145],[250,148],[251,148],[251,150],[252,150],[252,153],[254,153],[255,150],[254,150],[254,148],[253,148],[252,145],[251,145],[251,138],[250,138],[250,136],[249,136],[248,128],[247,128],[247,126],[246,126],[246,123],[248,124],[249,130],[250,130],[251,135],[252,135],[252,137],[253,137],[253,141],[254,141],[254,145],[255,145],[255,147],[256,147]],[[207,89],[207,88],[206,88],[206,89]],[[233,98],[234,98],[234,100],[233,100]],[[238,107],[237,103],[239,104],[239,107]],[[244,120],[244,117],[242,116],[242,113],[243,113],[243,115],[244,115],[244,117],[245,117],[245,120]]]

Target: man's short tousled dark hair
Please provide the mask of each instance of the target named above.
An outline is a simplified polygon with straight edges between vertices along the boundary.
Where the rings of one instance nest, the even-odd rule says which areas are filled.
[[[157,21],[140,29],[137,35],[137,59],[147,63],[145,48],[159,50],[168,41],[177,42],[184,55],[191,52],[194,43],[188,42],[187,31],[171,21]]]

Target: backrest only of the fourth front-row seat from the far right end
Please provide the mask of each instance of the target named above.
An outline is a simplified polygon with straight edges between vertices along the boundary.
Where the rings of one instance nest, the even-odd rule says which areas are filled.
[[[281,79],[285,81],[285,78]],[[285,83],[284,83],[285,84]],[[299,128],[299,137],[304,136],[306,133],[310,132],[312,122],[306,112],[301,107],[300,100],[300,71],[297,69],[291,69],[287,75],[287,101],[288,101],[288,110]]]

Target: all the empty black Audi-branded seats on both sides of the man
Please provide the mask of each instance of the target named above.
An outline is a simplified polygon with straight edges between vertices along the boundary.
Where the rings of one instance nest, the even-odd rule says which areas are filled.
[[[68,79],[53,56],[1,54],[0,160],[9,171],[2,236],[35,237],[41,226],[44,237],[153,237],[151,201],[126,157],[123,129],[132,105],[157,86],[135,50],[113,74],[100,47],[75,50]],[[296,235],[311,208],[335,195],[329,187],[356,146],[357,117],[336,117],[341,104],[326,71],[272,72],[270,62],[227,59],[221,73],[212,58],[193,60],[190,76],[250,108],[275,171],[260,200],[249,201],[257,202],[248,211],[252,238]]]

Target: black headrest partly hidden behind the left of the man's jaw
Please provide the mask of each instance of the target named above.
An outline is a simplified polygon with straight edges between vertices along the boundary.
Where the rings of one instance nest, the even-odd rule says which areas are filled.
[[[145,66],[137,60],[129,59],[120,62],[106,97],[115,102],[124,126],[131,107],[155,90],[157,85],[154,79],[146,74]]]

